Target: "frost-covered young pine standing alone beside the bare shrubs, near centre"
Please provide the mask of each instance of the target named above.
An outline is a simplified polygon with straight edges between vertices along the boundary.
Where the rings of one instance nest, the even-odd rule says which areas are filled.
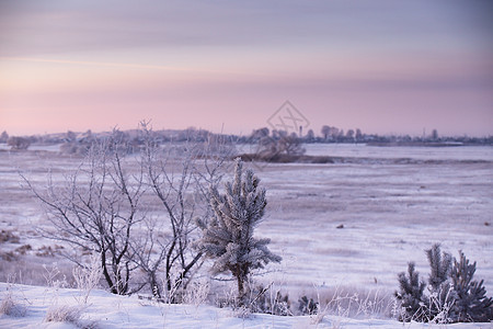
[[[234,179],[226,183],[226,194],[210,189],[210,223],[198,222],[203,238],[198,247],[215,259],[213,273],[231,272],[238,283],[239,305],[245,305],[244,285],[254,269],[262,269],[270,261],[280,262],[280,257],[267,249],[271,239],[253,238],[253,230],[264,215],[267,201],[265,190],[259,189],[260,180],[252,170],[243,175],[242,161],[236,159]]]

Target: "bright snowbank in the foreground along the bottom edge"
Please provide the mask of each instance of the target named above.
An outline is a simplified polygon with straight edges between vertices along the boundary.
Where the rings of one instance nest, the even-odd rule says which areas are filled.
[[[206,305],[169,305],[139,299],[137,296],[116,296],[103,291],[91,292],[87,303],[77,290],[38,287],[0,283],[1,300],[15,303],[16,316],[0,315],[0,328],[450,328],[486,329],[491,324],[427,325],[401,324],[386,319],[351,319],[326,315],[280,317],[265,314],[239,316],[230,309]],[[46,315],[80,313],[66,321],[47,321]],[[67,311],[66,311],[67,313]],[[64,317],[59,317],[62,319]],[[68,318],[68,317],[66,317]]]

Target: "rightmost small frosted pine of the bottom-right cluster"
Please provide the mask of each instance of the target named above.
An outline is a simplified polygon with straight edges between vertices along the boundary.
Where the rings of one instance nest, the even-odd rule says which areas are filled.
[[[454,260],[451,281],[456,292],[455,320],[461,322],[479,322],[493,320],[493,299],[486,297],[483,281],[472,281],[475,272],[475,262],[469,264],[462,251],[459,251],[459,261]]]

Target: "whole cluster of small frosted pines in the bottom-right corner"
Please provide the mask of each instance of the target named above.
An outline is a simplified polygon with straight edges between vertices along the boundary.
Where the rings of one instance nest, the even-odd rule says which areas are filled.
[[[431,274],[428,295],[426,284],[420,282],[414,263],[409,264],[409,276],[399,274],[400,291],[395,298],[400,305],[399,320],[449,322],[480,322],[493,320],[493,299],[486,297],[483,281],[473,281],[475,262],[469,263],[462,251],[459,261],[440,252],[439,245],[426,250]]]

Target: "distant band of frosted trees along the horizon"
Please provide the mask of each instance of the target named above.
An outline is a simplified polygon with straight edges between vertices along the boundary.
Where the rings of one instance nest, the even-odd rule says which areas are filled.
[[[130,150],[142,147],[144,140],[138,129],[117,131],[121,140],[125,140]],[[113,133],[74,133],[68,131],[61,134],[46,134],[33,136],[9,136],[7,132],[0,135],[0,144],[8,144],[12,150],[27,149],[32,144],[55,145],[60,144],[61,152],[85,154],[94,140],[108,138]],[[366,134],[359,128],[344,131],[335,126],[323,125],[320,134],[313,129],[306,134],[288,133],[284,131],[270,131],[267,127],[253,129],[250,135],[238,136],[227,134],[215,134],[206,129],[188,127],[186,129],[162,129],[153,131],[152,138],[158,144],[165,143],[208,143],[213,140],[228,140],[231,144],[256,145],[256,154],[268,156],[270,154],[302,155],[302,144],[313,143],[345,143],[345,144],[379,144],[379,145],[420,145],[420,144],[461,144],[461,145],[493,145],[493,136],[469,137],[469,136],[440,136],[437,129],[432,134],[423,136],[410,135],[378,135]]]

